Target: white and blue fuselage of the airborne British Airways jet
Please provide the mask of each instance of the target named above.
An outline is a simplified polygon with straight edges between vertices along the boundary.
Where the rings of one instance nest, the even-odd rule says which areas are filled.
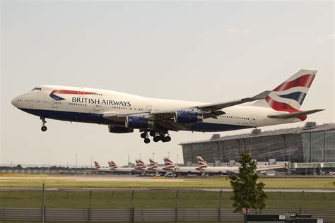
[[[47,119],[125,126],[124,119],[105,119],[105,113],[140,113],[168,111],[199,106],[204,102],[163,100],[129,95],[110,90],[42,85],[12,100],[12,104],[30,114]],[[53,93],[54,92],[54,93]],[[271,114],[282,114],[270,107],[236,105],[224,109],[218,119],[208,118],[187,126],[186,131],[230,131],[242,128],[271,126],[300,121],[298,118],[271,119]]]

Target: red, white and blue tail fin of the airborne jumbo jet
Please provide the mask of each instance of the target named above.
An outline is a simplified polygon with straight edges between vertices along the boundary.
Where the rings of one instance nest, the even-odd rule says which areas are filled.
[[[272,90],[265,100],[259,100],[254,106],[271,107],[276,111],[298,111],[305,100],[317,71],[300,70],[285,82]]]

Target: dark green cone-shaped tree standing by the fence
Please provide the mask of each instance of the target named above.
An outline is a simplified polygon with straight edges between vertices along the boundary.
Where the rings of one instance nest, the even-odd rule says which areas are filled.
[[[240,168],[237,176],[230,175],[230,185],[233,188],[234,212],[240,212],[243,208],[248,212],[250,208],[261,210],[265,208],[266,194],[264,183],[257,183],[259,178],[256,172],[256,164],[247,153],[241,154]]]

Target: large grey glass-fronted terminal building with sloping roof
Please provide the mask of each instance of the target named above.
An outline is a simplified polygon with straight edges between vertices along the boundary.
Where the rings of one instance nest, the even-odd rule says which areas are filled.
[[[240,153],[247,152],[257,162],[288,161],[295,163],[335,162],[335,123],[316,125],[307,122],[298,128],[274,131],[253,129],[251,133],[220,137],[210,140],[180,143],[184,164],[196,162],[196,156],[208,163],[228,163],[240,160]]]

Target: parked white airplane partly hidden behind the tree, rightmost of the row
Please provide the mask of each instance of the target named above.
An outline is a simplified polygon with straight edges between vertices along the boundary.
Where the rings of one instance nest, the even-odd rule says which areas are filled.
[[[209,167],[204,159],[200,156],[196,157],[198,160],[199,171],[205,174],[238,174],[240,167]],[[266,171],[270,169],[283,169],[286,168],[286,164],[274,164],[274,165],[257,165],[256,171]]]

